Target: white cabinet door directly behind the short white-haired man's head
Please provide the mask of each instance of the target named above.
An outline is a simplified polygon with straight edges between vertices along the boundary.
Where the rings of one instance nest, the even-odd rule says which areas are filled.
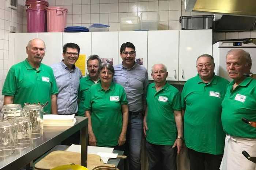
[[[148,31],[148,78],[154,64],[165,64],[166,80],[178,81],[179,31]]]

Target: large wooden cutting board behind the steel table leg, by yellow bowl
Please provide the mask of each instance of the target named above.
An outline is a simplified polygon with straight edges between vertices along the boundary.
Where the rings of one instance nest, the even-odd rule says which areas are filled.
[[[81,165],[81,155],[76,152],[53,151],[35,164],[37,170],[50,170],[56,166],[76,164]],[[97,170],[106,167],[106,169],[116,170],[116,165],[103,163],[101,157],[96,154],[87,154],[87,168]]]

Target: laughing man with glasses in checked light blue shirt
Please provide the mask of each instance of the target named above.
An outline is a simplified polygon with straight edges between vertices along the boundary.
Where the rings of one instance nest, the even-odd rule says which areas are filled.
[[[53,64],[54,77],[59,88],[57,95],[58,114],[71,115],[78,111],[79,80],[82,73],[75,62],[78,60],[80,48],[77,44],[67,43],[63,46],[63,58]]]

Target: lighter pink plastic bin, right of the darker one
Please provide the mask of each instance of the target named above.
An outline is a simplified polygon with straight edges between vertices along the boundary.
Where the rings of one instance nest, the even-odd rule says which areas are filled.
[[[67,8],[47,7],[47,32],[64,32],[67,22]]]

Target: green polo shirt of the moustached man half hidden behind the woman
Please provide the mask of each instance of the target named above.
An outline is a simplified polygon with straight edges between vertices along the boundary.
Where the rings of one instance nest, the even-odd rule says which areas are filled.
[[[98,81],[99,82],[99,81]],[[78,93],[78,112],[76,116],[84,116],[85,108],[84,108],[84,99],[86,93],[88,92],[89,88],[95,84],[93,80],[91,80],[90,76],[86,76],[80,79],[80,86],[79,86],[79,93]]]

